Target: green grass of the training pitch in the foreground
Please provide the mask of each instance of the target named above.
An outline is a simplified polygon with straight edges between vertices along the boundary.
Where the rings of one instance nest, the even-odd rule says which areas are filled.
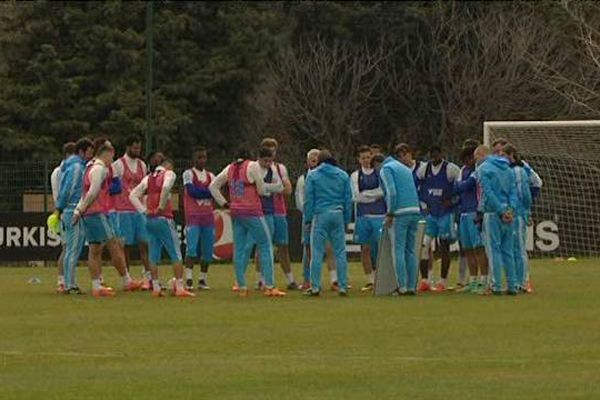
[[[533,278],[516,298],[241,299],[215,266],[195,299],[96,300],[0,268],[0,399],[600,398],[600,262],[535,261]]]

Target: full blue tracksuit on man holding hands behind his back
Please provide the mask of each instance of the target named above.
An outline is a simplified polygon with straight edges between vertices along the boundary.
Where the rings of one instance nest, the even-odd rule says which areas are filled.
[[[483,234],[492,269],[493,290],[500,291],[502,288],[502,268],[506,271],[508,289],[515,290],[513,256],[515,223],[502,221],[502,214],[509,210],[512,210],[515,215],[517,206],[515,175],[506,158],[488,156],[477,169],[476,176],[481,188],[479,208],[484,213]]]

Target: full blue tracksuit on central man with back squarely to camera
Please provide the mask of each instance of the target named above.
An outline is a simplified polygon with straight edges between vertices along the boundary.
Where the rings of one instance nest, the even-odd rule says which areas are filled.
[[[340,291],[347,290],[346,225],[351,218],[350,177],[325,161],[307,175],[304,191],[304,219],[312,225],[310,281],[313,291],[321,290],[321,265],[328,240],[335,254]]]

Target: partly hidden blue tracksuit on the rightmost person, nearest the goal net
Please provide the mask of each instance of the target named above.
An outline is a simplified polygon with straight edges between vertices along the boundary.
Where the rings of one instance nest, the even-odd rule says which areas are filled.
[[[529,184],[529,174],[525,166],[513,165],[517,188],[515,209],[515,270],[517,285],[525,286],[529,280],[529,259],[527,257],[527,223],[533,202]]]

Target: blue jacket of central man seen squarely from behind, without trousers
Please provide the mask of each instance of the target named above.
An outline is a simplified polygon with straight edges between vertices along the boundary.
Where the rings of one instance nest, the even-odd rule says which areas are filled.
[[[321,163],[306,176],[304,190],[304,219],[312,222],[316,214],[342,211],[344,222],[352,218],[352,188],[350,177],[339,167]]]

